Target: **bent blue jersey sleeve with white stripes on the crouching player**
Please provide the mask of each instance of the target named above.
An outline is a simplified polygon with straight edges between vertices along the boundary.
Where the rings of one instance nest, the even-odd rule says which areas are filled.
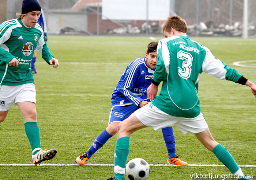
[[[140,71],[138,64],[131,64],[130,68],[124,73],[124,81],[120,85],[120,92],[132,102],[133,105],[139,106],[143,101],[138,95],[132,93],[133,85],[139,77]]]

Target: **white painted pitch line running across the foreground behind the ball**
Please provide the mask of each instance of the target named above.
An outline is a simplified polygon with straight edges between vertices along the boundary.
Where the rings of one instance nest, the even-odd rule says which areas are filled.
[[[78,164],[40,164],[38,166],[76,166]],[[86,166],[114,166],[114,164],[85,164]],[[34,166],[34,164],[0,164],[0,166]],[[150,166],[173,166],[170,164],[150,164]],[[219,164],[189,164],[189,166],[210,166],[210,167],[225,167]],[[240,167],[256,167],[256,165],[239,165]]]

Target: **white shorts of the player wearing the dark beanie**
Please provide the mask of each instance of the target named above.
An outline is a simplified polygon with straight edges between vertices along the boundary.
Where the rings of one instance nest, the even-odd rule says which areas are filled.
[[[0,85],[0,111],[7,111],[17,102],[35,102],[35,85],[27,83],[18,86]]]

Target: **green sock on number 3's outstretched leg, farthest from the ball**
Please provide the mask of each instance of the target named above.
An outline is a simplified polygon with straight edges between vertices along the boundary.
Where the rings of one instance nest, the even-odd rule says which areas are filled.
[[[234,174],[235,172],[238,171],[239,166],[236,163],[234,157],[221,144],[218,144],[217,146],[215,146],[212,152],[229,169],[231,173]]]

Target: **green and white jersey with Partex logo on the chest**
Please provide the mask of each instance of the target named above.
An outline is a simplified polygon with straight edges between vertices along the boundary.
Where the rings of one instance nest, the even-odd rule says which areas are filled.
[[[39,24],[28,28],[21,20],[11,19],[0,25],[0,85],[34,83],[30,63],[35,49],[48,64],[54,58]],[[19,60],[18,67],[8,66],[13,58]]]

